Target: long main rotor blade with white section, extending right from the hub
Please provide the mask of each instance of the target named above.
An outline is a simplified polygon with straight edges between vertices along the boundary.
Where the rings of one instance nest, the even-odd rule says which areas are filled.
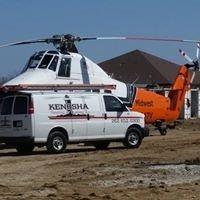
[[[156,37],[82,37],[80,40],[145,40],[145,41],[160,41],[160,42],[186,42],[186,43],[199,43],[199,40],[184,40],[173,38],[156,38]]]

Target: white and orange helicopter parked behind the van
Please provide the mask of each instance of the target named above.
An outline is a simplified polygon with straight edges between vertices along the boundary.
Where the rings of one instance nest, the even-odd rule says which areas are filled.
[[[145,40],[160,42],[197,43],[197,60],[192,60],[185,52],[181,55],[188,64],[180,66],[178,75],[167,97],[137,88],[134,83],[126,84],[113,79],[103,69],[86,56],[80,54],[76,42],[88,40]],[[197,40],[182,40],[150,37],[78,37],[71,34],[54,35],[49,38],[25,40],[0,45],[0,48],[34,43],[53,44],[56,50],[39,51],[28,60],[21,74],[6,82],[3,87],[17,85],[49,84],[112,84],[112,93],[118,96],[131,110],[145,114],[147,124],[153,124],[161,133],[167,133],[165,124],[174,122],[181,112],[185,93],[199,71],[200,45]],[[148,103],[144,103],[148,102]]]

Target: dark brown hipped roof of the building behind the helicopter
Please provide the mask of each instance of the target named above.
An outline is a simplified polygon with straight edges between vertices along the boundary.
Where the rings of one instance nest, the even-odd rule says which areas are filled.
[[[179,65],[152,54],[135,50],[99,63],[101,68],[113,78],[136,84],[158,84],[170,86],[179,69]],[[200,86],[197,74],[194,85]]]

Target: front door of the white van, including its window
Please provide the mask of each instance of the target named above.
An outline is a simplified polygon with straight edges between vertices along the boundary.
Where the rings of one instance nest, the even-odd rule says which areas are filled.
[[[129,125],[129,110],[116,97],[104,95],[105,137],[124,137]]]

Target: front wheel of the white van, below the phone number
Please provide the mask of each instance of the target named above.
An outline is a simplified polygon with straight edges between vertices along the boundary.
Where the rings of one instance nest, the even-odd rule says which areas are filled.
[[[142,132],[136,127],[129,128],[123,144],[128,148],[138,148],[142,143]]]

